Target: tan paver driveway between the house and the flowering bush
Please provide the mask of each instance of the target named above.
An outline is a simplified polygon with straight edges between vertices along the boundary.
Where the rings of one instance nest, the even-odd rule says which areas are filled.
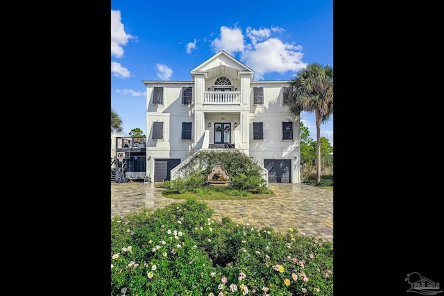
[[[142,207],[158,209],[175,200],[164,198],[156,183],[111,182],[111,216],[133,213]],[[333,191],[307,184],[270,183],[275,196],[262,200],[205,200],[213,218],[228,216],[233,222],[272,227],[276,232],[298,229],[325,241],[333,241]]]

